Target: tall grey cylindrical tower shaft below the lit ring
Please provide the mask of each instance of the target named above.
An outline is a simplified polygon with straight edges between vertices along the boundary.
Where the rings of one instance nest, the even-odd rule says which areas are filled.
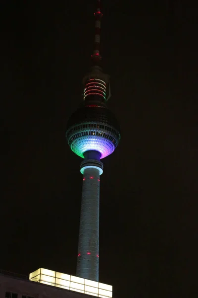
[[[99,169],[84,170],[77,276],[99,281]]]

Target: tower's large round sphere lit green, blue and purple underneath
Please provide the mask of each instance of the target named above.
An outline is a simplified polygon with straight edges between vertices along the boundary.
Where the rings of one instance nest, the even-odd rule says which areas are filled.
[[[66,139],[71,150],[84,158],[83,153],[96,150],[100,158],[110,155],[120,141],[120,129],[113,113],[102,102],[85,102],[72,114],[67,123]]]

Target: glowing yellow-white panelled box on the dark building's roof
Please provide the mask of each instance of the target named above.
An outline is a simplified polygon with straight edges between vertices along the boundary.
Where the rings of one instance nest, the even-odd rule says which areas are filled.
[[[30,273],[29,280],[49,286],[101,298],[112,298],[112,286],[73,275],[39,268]]]

